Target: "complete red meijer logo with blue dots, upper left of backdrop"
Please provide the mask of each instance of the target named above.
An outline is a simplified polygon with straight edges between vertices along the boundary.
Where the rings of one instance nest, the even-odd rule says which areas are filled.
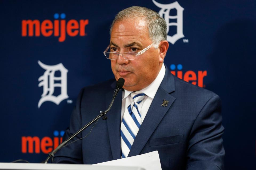
[[[61,20],[59,20],[61,18]],[[42,23],[38,19],[35,20],[22,20],[22,37],[39,37],[40,35],[49,37],[55,36],[59,37],[59,42],[63,42],[66,39],[67,35],[74,37],[77,36],[86,36],[85,26],[89,24],[88,19],[80,19],[79,21],[71,19],[66,22],[66,14],[62,13],[54,14],[54,21],[49,19],[43,20]]]

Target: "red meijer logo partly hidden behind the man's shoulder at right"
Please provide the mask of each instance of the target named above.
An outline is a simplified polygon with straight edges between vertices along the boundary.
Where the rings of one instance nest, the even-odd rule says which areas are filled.
[[[182,71],[183,66],[181,64],[177,65],[178,71],[175,71],[176,66],[174,64],[170,65],[171,74],[177,76],[180,79],[183,79],[186,82],[190,82],[191,84],[197,85],[199,87],[204,87],[205,85],[203,84],[203,78],[207,76],[207,71],[197,71],[195,73],[194,71],[186,71],[183,73]]]

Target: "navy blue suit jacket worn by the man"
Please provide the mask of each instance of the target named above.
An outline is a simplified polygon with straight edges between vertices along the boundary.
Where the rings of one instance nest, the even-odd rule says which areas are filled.
[[[109,106],[115,80],[81,90],[70,127],[64,139],[95,118]],[[161,106],[163,99],[167,107]],[[107,120],[99,119],[91,133],[58,151],[57,163],[95,164],[121,157],[121,103],[119,92]],[[173,76],[166,69],[145,119],[128,156],[158,150],[162,169],[224,169],[221,125],[221,101],[218,95]],[[75,139],[90,132],[87,128]]]

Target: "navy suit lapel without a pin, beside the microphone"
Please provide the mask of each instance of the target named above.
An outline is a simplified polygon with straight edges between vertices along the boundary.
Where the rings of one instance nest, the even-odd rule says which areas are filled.
[[[114,82],[116,83],[116,82]],[[109,107],[111,99],[113,97],[113,91],[106,94],[106,108]],[[113,156],[113,160],[121,158],[121,137],[120,137],[120,126],[121,126],[121,106],[122,106],[122,90],[119,91],[115,102],[112,105],[110,111],[106,114],[107,116],[107,130],[109,134],[110,148]]]

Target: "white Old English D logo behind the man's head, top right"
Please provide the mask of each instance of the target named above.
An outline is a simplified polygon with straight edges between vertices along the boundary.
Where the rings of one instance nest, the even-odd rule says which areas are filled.
[[[179,3],[177,1],[170,3],[170,4],[161,4],[154,0],[152,0],[153,3],[161,8],[161,10],[158,12],[160,16],[162,16],[166,23],[167,23],[167,33],[169,33],[169,27],[170,26],[176,26],[176,33],[173,36],[167,35],[167,41],[169,41],[171,44],[174,44],[177,40],[184,37],[183,35],[183,10]],[[176,9],[177,15],[171,16],[170,10]],[[170,19],[177,20],[177,22],[170,22]]]

